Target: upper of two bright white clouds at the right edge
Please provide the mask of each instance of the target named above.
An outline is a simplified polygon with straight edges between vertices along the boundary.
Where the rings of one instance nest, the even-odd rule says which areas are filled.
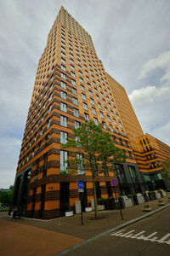
[[[161,53],[157,58],[147,61],[142,67],[141,72],[139,73],[138,79],[144,79],[150,71],[161,68],[165,71],[165,75],[161,78],[162,81],[170,82],[170,50]]]

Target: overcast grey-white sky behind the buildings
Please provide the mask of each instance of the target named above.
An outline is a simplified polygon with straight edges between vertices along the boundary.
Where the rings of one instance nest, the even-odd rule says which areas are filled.
[[[169,0],[1,0],[0,188],[14,183],[37,63],[61,5],[92,36],[144,132],[170,145]]]

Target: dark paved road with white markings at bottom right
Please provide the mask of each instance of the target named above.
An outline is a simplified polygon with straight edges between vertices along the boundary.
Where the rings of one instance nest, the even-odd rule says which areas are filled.
[[[170,208],[78,247],[69,256],[170,255]]]

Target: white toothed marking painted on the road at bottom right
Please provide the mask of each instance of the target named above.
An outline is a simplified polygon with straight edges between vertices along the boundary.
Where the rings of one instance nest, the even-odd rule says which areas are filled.
[[[166,241],[167,238],[170,236],[170,233],[167,233],[167,235],[161,237],[159,239],[156,234],[157,232],[153,232],[150,234],[150,236],[144,236],[143,234],[146,232],[145,230],[140,231],[138,234],[134,235],[135,230],[130,230],[124,233],[126,230],[120,230],[115,233],[111,233],[111,236],[120,236],[120,237],[126,237],[126,238],[132,238],[132,239],[138,239],[138,240],[144,240],[144,241],[157,241],[160,243],[167,243],[167,245],[170,245],[170,240]]]

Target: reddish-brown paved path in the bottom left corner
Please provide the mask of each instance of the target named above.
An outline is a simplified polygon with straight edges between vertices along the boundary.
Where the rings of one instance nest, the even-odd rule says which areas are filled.
[[[83,240],[0,218],[1,256],[52,256]]]

